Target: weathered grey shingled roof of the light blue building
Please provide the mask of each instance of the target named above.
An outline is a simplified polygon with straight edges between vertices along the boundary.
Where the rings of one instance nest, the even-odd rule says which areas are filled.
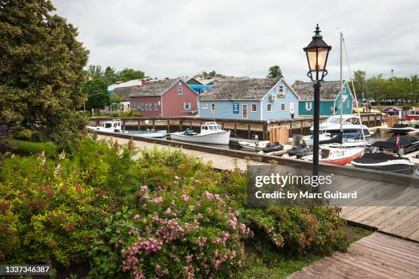
[[[249,80],[233,80],[217,82],[200,100],[260,100],[279,79],[253,78]]]

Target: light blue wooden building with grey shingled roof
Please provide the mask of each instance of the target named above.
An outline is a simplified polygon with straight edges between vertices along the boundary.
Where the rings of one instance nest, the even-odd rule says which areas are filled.
[[[217,82],[201,95],[199,117],[278,120],[299,115],[299,96],[284,79]]]

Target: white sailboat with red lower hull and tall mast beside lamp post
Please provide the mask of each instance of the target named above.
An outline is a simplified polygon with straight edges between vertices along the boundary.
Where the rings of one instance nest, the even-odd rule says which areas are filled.
[[[342,44],[343,44],[343,33],[340,33],[340,108],[343,108],[343,96],[342,88],[344,86],[342,82]],[[355,103],[358,104],[357,97],[355,94],[355,88],[353,92],[353,97]],[[358,112],[358,118],[361,119],[361,116]],[[359,125],[359,132],[361,132],[361,138],[352,138],[351,141],[344,141],[344,117],[342,110],[340,110],[340,129],[339,134],[335,138],[331,137],[329,139],[323,139],[320,141],[320,152],[319,152],[319,162],[325,162],[333,165],[346,165],[351,163],[353,160],[360,158],[364,155],[366,149],[365,133],[362,125]],[[346,120],[346,117],[345,117]],[[298,156],[298,155],[297,155]],[[303,160],[313,160],[313,153],[306,153],[301,156]]]

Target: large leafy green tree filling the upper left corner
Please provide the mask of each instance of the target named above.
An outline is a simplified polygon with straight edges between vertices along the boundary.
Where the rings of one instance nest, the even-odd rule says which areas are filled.
[[[48,0],[0,1],[0,118],[64,142],[86,125],[88,51]]]

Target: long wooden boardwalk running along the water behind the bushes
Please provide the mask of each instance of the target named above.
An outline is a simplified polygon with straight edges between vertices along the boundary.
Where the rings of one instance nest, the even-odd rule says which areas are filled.
[[[99,138],[107,136],[99,135]],[[117,138],[118,143],[127,143],[125,138]],[[137,147],[157,147],[159,149],[179,149],[166,145],[147,143],[144,141],[134,141]],[[242,158],[232,158],[226,155],[211,154],[204,151],[195,151],[182,149],[185,154],[192,154],[201,158],[204,162],[212,162],[216,169],[234,169],[236,166],[240,169],[246,169],[247,165],[267,165],[264,162],[244,160]],[[281,166],[283,171],[295,171],[294,168]],[[309,174],[309,173],[307,173]],[[305,175],[307,175],[305,174]],[[353,222],[376,228],[379,232],[385,232],[405,239],[419,242],[419,188],[402,186],[385,182],[378,182],[364,178],[353,178],[346,175],[334,175],[333,182],[339,189],[357,190],[360,194],[368,193],[377,195],[373,197],[371,206],[357,206],[361,203],[357,199],[354,204],[342,206],[341,217],[348,222]],[[381,198],[377,193],[387,193],[387,197]],[[332,190],[332,189],[331,189]]]

